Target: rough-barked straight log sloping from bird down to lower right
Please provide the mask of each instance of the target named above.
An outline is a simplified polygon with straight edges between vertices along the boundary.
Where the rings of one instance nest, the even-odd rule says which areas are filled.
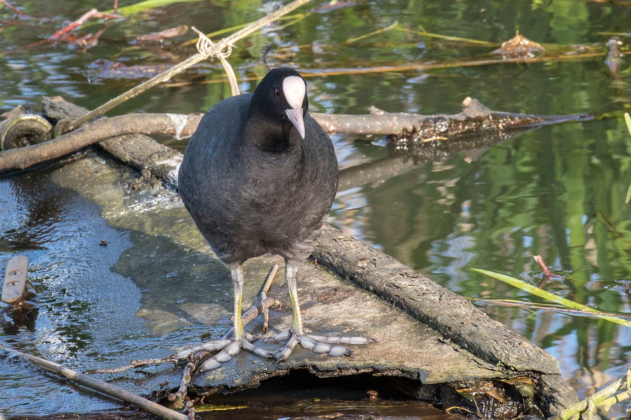
[[[146,136],[135,140],[155,143]],[[136,148],[139,153],[136,161],[143,162],[142,153],[147,148],[150,146]],[[181,156],[174,151],[174,156],[178,155]],[[148,162],[148,158],[144,156],[144,161]],[[150,163],[134,163],[133,166],[141,169],[150,167]],[[563,382],[558,363],[550,354],[490,320],[464,298],[441,288],[418,271],[327,225],[316,244],[314,256],[321,264],[395,303],[481,359],[536,375],[540,382],[536,399],[549,413],[576,400],[574,390]]]

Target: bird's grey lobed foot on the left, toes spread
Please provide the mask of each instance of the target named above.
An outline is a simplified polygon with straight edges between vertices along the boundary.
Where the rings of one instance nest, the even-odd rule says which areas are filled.
[[[219,368],[223,363],[226,363],[232,360],[232,356],[235,356],[239,353],[241,349],[245,349],[247,351],[251,351],[257,356],[261,356],[264,358],[274,359],[276,356],[271,351],[267,351],[266,349],[262,349],[261,347],[254,346],[249,340],[254,339],[251,334],[245,334],[244,337],[240,339],[220,339],[220,340],[211,340],[205,342],[201,346],[194,347],[193,349],[183,350],[179,353],[175,353],[175,358],[186,358],[188,354],[194,353],[196,351],[218,351],[219,353],[213,355],[211,358],[208,358],[199,365],[198,371],[209,371]]]

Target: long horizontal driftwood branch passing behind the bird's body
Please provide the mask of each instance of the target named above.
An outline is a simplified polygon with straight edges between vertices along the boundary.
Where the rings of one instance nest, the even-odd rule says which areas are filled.
[[[62,101],[61,98],[43,98],[42,106],[54,108],[60,105],[59,103],[56,104],[60,101]],[[73,114],[79,109],[74,107]],[[541,116],[495,112],[471,98],[466,98],[463,102],[463,111],[454,115],[392,114],[375,110],[375,108],[372,112],[374,114],[371,115],[312,114],[312,116],[329,133],[403,134],[421,139],[442,138],[481,131],[504,132],[511,129],[540,127],[546,124],[584,121],[593,118],[590,115]],[[85,115],[85,110],[81,115]],[[191,136],[201,117],[201,114],[128,114],[110,119],[98,119],[56,139],[25,148],[0,152],[0,171],[25,169],[37,163],[68,155],[73,151],[111,137],[141,132],[145,134],[164,133],[176,137]],[[63,124],[63,120],[58,123],[58,125]],[[56,127],[55,131],[63,132],[64,127]],[[167,151],[162,148],[157,148],[154,151],[154,153],[160,152]],[[132,160],[132,156],[133,153],[130,151],[126,160]],[[162,160],[167,160],[167,158]]]

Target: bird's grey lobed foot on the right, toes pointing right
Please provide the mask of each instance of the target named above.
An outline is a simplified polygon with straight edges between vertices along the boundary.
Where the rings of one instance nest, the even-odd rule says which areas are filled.
[[[311,349],[316,354],[327,354],[333,357],[353,357],[351,349],[339,344],[370,344],[374,342],[373,339],[354,335],[298,334],[293,328],[268,339],[268,341],[272,342],[285,340],[287,340],[285,346],[276,353],[276,361],[286,360],[298,343],[300,343],[302,348]]]

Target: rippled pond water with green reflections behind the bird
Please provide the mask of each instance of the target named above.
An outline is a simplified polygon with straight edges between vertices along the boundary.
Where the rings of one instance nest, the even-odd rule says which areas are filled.
[[[124,66],[175,64],[194,52],[191,45],[182,45],[194,38],[192,32],[144,44],[135,40],[136,35],[178,25],[209,33],[256,20],[280,4],[174,1],[145,9],[139,3],[137,9],[122,9],[126,20],[107,26],[95,46],[83,49],[68,42],[47,41],[64,21],[75,20],[92,7],[111,9],[112,3],[13,1],[23,13],[34,16],[16,20],[13,11],[0,8],[0,109],[28,104],[37,110],[42,95],[61,95],[77,105],[95,108],[137,85],[143,74],[151,74],[146,67]],[[122,0],[119,6],[134,3]],[[291,66],[302,71],[309,83],[313,112],[366,114],[374,105],[389,112],[452,114],[459,112],[466,96],[493,110],[527,114],[615,113],[630,105],[628,59],[623,57],[619,70],[612,72],[606,50],[582,59],[565,54],[579,50],[576,45],[603,45],[611,33],[628,32],[631,9],[624,4],[356,0],[322,8],[326,5],[309,4],[294,12],[294,18],[274,23],[237,44],[230,62],[242,81],[242,91],[252,90],[266,73],[266,62],[270,67]],[[383,30],[394,23],[395,27]],[[90,23],[76,31],[76,37],[103,28],[102,22]],[[379,29],[383,31],[353,40]],[[419,33],[422,30],[493,44],[425,36]],[[490,52],[516,30],[544,44],[550,54],[562,54],[563,59],[452,66],[427,72],[396,69],[416,63],[498,58]],[[625,37],[621,40],[625,45],[628,42]],[[377,66],[392,68],[354,71]],[[205,112],[228,95],[230,88],[223,82],[220,64],[204,62],[109,115]],[[387,155],[382,137],[332,138],[341,168]],[[186,146],[186,140],[160,140],[180,150]],[[623,120],[605,118],[545,127],[495,144],[473,160],[469,157],[458,154],[416,166],[384,182],[341,190],[329,222],[471,298],[492,318],[546,349],[558,358],[563,377],[579,397],[620,378],[628,368],[631,349],[628,327],[528,305],[507,306],[498,300],[545,302],[471,269],[502,271],[536,284],[541,270],[533,255],[541,255],[551,269],[565,275],[562,281],[546,286],[548,290],[599,310],[628,313],[625,286],[631,283],[631,203],[625,202],[625,194],[631,184],[631,136]],[[37,255],[55,252],[45,246],[46,235],[54,235],[46,206],[72,206],[63,203],[62,192],[40,190],[37,177],[37,172],[30,173],[29,181],[20,181],[19,188],[11,187],[6,179],[0,185],[4,197],[22,197],[26,194],[23,189],[31,184],[27,194],[31,198],[0,208],[3,267],[17,252],[30,252],[36,265]],[[45,204],[33,202],[32,197],[45,197]],[[86,206],[79,208],[97,211]],[[54,222],[74,223],[72,214],[66,216]],[[33,235],[42,235],[39,242],[17,240],[15,232],[20,226],[38,230]],[[69,240],[75,244],[79,238],[87,240],[87,235],[81,235],[79,226],[76,237]],[[122,243],[125,240],[121,238]],[[98,267],[107,271],[114,263],[115,259],[104,257]],[[101,286],[101,293],[108,293]],[[79,310],[81,301],[76,305]],[[130,308],[130,313],[136,309]],[[55,309],[50,306],[49,310]],[[62,312],[68,320],[62,324],[66,329],[72,329],[73,322],[88,322],[73,321],[73,310],[64,308]],[[28,334],[5,328],[0,342],[27,342]],[[64,334],[74,333],[68,330]],[[72,346],[64,351],[73,351]],[[9,376],[0,370],[0,383]],[[29,380],[36,387],[50,386],[45,378]],[[7,384],[0,388],[10,386]],[[94,404],[98,409],[98,403]],[[59,401],[41,409],[29,406],[27,412],[46,414],[63,406],[64,401]],[[625,406],[620,404],[606,417],[624,413]]]

